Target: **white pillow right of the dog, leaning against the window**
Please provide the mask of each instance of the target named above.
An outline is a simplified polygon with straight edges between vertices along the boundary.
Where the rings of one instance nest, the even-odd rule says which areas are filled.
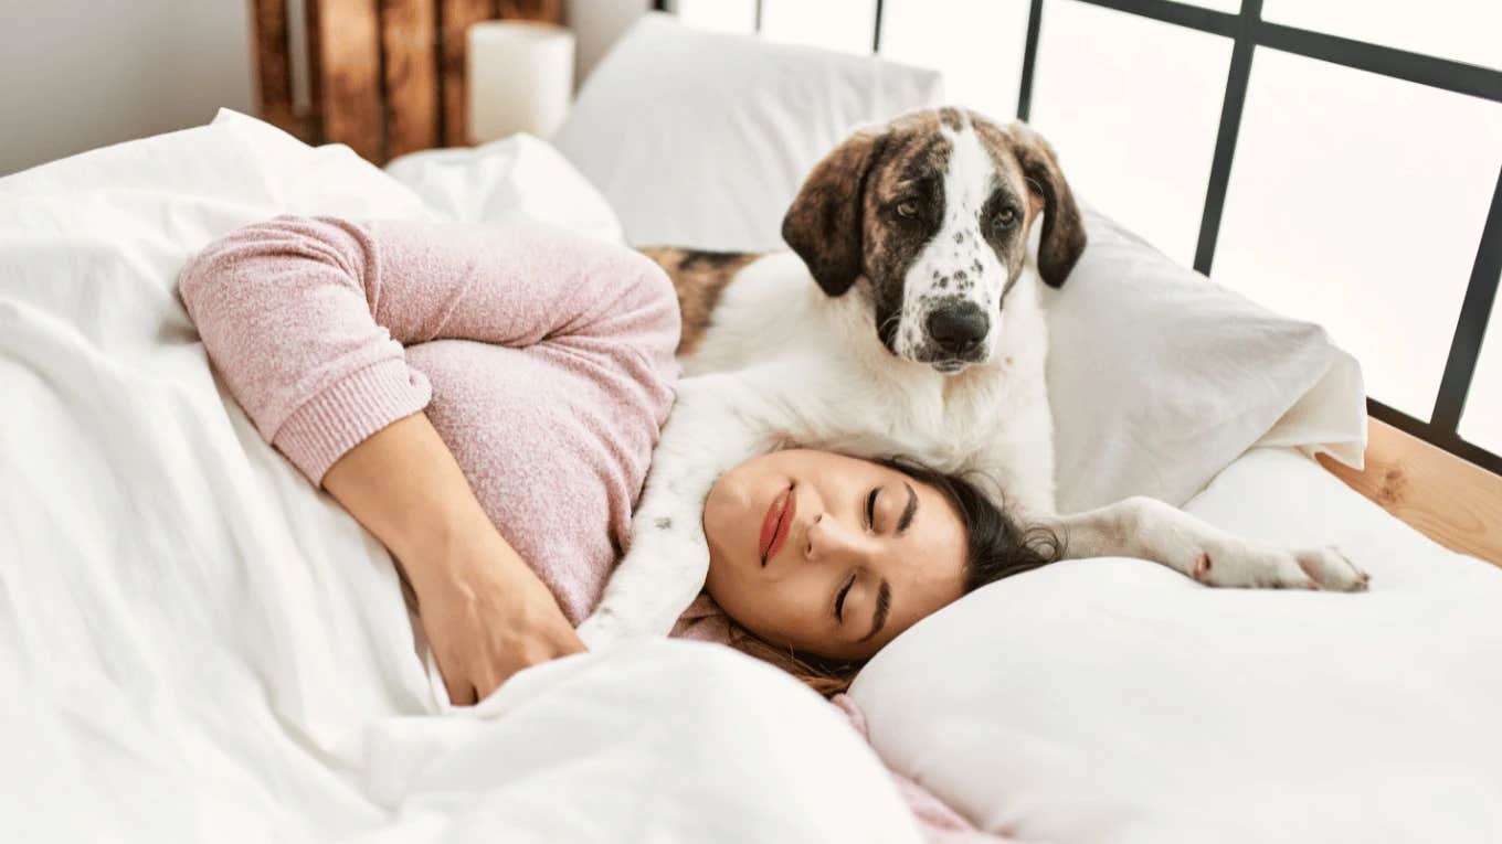
[[[1068,162],[1063,162],[1068,173]],[[1128,496],[1182,505],[1253,445],[1361,466],[1361,366],[1084,210],[1089,246],[1044,287],[1059,509]]]

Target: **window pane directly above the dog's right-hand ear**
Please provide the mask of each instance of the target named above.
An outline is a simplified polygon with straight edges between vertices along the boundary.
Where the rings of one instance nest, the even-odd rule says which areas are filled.
[[[1194,261],[1232,42],[1074,0],[1044,6],[1032,125],[1069,185]]]

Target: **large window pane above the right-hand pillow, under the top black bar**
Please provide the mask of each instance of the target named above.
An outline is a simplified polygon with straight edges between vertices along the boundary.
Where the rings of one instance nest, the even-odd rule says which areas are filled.
[[[1499,165],[1502,105],[1257,50],[1215,279],[1323,323],[1368,395],[1428,419]]]

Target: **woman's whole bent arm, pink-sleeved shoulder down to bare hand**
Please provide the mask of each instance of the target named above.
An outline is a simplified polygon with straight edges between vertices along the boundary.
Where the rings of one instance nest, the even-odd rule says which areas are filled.
[[[278,218],[204,249],[180,291],[261,436],[401,560],[455,703],[580,647],[523,565],[533,560],[520,560],[485,518],[454,452],[421,414],[428,380],[407,365],[403,344],[545,342],[571,377],[535,393],[520,386],[526,395],[506,401],[521,410],[566,384],[572,401],[608,408],[604,427],[569,436],[601,439],[596,451],[617,461],[601,484],[628,506],[676,377],[677,314],[655,264],[541,228]],[[508,407],[487,413],[496,419],[487,436],[505,437]],[[467,445],[473,452],[484,442]],[[568,506],[548,515],[568,524]],[[521,530],[520,544],[538,551],[529,524],[500,527]],[[580,547],[548,542],[560,560],[590,565]]]

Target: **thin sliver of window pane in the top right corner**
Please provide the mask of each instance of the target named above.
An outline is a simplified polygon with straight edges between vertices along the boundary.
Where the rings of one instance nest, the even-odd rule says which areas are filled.
[[[1262,18],[1467,65],[1502,68],[1502,3],[1496,0],[1266,0]]]

